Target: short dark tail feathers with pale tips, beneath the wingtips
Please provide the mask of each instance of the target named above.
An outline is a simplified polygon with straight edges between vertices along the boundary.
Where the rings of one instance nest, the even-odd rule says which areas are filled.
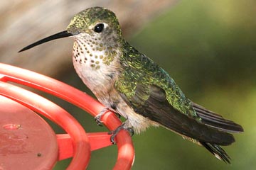
[[[230,164],[230,157],[225,152],[224,149],[222,149],[219,145],[210,144],[206,142],[200,142],[203,147],[206,147],[210,153],[212,153],[216,158],[223,160],[223,162]]]

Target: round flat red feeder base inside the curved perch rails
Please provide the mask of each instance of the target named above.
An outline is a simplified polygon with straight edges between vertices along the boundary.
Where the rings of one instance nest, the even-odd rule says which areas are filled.
[[[0,96],[0,120],[0,169],[53,168],[58,145],[55,133],[43,118]]]

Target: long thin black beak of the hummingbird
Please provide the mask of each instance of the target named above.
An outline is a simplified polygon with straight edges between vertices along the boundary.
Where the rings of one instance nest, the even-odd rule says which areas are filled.
[[[68,33],[67,30],[64,30],[64,31],[62,31],[62,32],[60,32],[60,33],[56,33],[56,34],[54,34],[54,35],[50,35],[50,36],[47,37],[47,38],[43,38],[42,40],[38,40],[37,42],[33,42],[33,44],[28,45],[28,46],[26,46],[26,47],[23,47],[23,49],[19,50],[18,52],[23,52],[23,51],[25,51],[25,50],[30,49],[31,47],[35,47],[35,46],[37,46],[37,45],[41,45],[41,44],[43,44],[44,42],[48,42],[48,41],[51,41],[51,40],[56,40],[56,39],[59,39],[59,38],[70,37],[70,36],[72,36],[72,35],[73,35],[73,34]]]

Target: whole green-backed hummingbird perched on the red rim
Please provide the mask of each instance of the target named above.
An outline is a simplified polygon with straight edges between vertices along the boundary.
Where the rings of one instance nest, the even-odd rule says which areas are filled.
[[[230,163],[220,146],[235,142],[230,133],[243,132],[242,126],[188,99],[164,69],[124,40],[112,11],[87,8],[72,18],[66,30],[19,52],[65,37],[74,38],[73,65],[80,79],[107,109],[125,118],[112,132],[112,142],[119,130],[140,133],[160,125]]]

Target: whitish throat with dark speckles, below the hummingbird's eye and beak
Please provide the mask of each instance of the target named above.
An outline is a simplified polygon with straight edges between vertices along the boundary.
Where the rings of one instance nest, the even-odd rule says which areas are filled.
[[[110,29],[109,31],[108,28],[105,29],[105,34],[109,34]],[[73,46],[73,61],[86,64],[87,67],[93,69],[100,69],[102,64],[110,65],[117,54],[120,53],[119,38],[117,36],[104,36],[87,33],[76,35]]]

